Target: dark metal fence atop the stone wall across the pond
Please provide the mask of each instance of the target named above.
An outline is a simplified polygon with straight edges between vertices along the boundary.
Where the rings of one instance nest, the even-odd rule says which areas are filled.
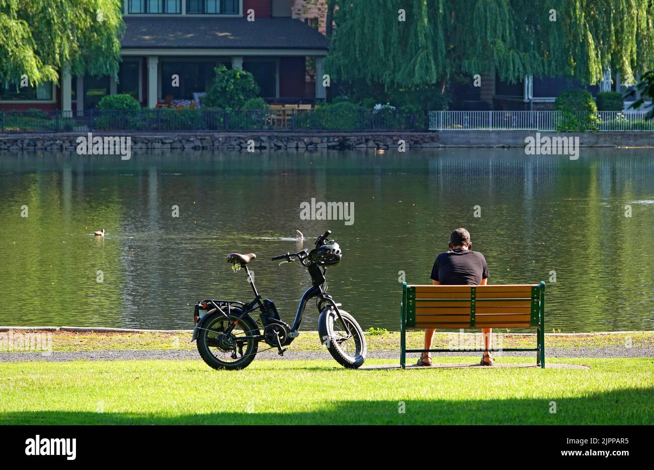
[[[0,111],[0,133],[181,131],[370,131],[427,129],[427,115],[390,110],[141,109]]]

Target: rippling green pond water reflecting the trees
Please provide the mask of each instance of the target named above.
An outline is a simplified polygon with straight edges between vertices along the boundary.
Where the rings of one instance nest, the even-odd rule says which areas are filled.
[[[353,223],[302,220],[312,198],[349,203]],[[330,294],[396,330],[402,272],[429,283],[463,226],[489,284],[547,282],[547,331],[654,329],[653,150],[3,154],[0,201],[0,325],[191,328],[200,299],[252,298],[230,252],[257,254],[256,285],[291,322],[309,278],[270,257],[331,229]],[[302,329],[316,320],[310,303]]]

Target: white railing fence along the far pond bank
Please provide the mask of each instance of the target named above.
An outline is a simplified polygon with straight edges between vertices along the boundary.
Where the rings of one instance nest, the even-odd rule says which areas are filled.
[[[600,111],[594,126],[598,131],[654,131],[654,120],[646,111]],[[429,130],[468,131],[556,131],[561,111],[430,111]]]

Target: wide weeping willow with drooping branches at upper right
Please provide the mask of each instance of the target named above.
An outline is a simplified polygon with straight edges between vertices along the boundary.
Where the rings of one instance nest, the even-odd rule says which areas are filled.
[[[339,0],[328,73],[387,87],[496,69],[596,84],[654,66],[654,0]]]

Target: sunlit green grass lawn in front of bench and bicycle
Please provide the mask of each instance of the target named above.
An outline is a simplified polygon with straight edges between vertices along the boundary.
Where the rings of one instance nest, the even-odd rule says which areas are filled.
[[[2,363],[0,423],[654,424],[653,359],[548,359],[591,369],[351,371],[334,361],[255,360],[229,372],[200,361]]]

